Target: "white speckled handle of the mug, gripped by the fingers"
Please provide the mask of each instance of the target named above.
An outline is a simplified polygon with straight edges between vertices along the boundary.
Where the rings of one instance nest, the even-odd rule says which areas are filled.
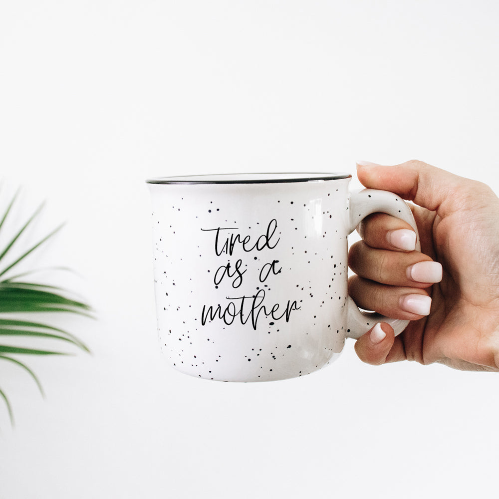
[[[407,203],[396,194],[376,189],[363,189],[350,194],[348,234],[351,234],[362,220],[373,213],[386,213],[407,222],[416,232],[416,250],[421,250],[419,233],[412,211]],[[387,322],[393,327],[395,335],[400,334],[409,324],[408,320],[391,319],[376,312],[359,310],[355,302],[348,296],[347,336],[358,339],[377,322]]]

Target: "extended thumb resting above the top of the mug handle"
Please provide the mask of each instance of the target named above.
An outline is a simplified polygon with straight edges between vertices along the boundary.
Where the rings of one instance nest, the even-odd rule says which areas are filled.
[[[382,189],[414,201],[442,217],[452,209],[453,194],[462,188],[465,179],[422,161],[412,160],[396,166],[381,166],[359,161],[357,176],[370,189]]]

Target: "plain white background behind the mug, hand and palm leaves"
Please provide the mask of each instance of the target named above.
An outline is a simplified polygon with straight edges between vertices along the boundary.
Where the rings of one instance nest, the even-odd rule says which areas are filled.
[[[68,221],[41,254],[97,316],[68,326],[92,356],[26,359],[45,400],[0,365],[0,498],[497,493],[497,374],[351,340],[282,382],[166,367],[144,179],[416,158],[499,192],[498,25],[494,0],[0,0],[0,173]]]

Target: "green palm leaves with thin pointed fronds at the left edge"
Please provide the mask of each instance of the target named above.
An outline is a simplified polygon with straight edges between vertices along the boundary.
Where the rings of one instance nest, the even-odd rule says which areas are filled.
[[[2,236],[4,223],[16,203],[18,194],[19,191],[12,197],[1,217],[0,233]],[[78,338],[67,331],[38,320],[28,320],[24,315],[29,313],[64,312],[91,316],[91,310],[86,303],[70,297],[70,293],[60,287],[27,281],[26,277],[35,272],[36,269],[22,271],[15,275],[12,274],[18,268],[20,262],[24,262],[29,254],[37,250],[62,227],[57,227],[34,245],[28,246],[27,250],[21,250],[11,257],[16,248],[19,248],[26,229],[36,220],[42,207],[43,205],[19,229],[14,231],[13,237],[6,238],[7,243],[0,248],[0,360],[13,363],[22,368],[35,381],[43,394],[38,377],[17,356],[67,355],[64,350],[50,347],[54,342],[61,345],[71,345],[85,352],[89,352],[89,350]],[[7,262],[9,257],[11,257],[11,260]],[[19,314],[21,318],[17,317]],[[15,318],[12,318],[12,315]],[[26,345],[26,342],[29,343],[29,340],[33,339],[38,340],[36,346]],[[47,348],[39,347],[40,340],[49,342],[49,346]],[[5,402],[10,421],[13,424],[12,406],[6,393],[1,389],[0,398]]]

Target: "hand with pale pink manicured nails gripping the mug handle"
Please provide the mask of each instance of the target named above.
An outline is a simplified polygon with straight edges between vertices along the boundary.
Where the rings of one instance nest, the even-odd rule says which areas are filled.
[[[361,163],[357,173],[365,187],[415,203],[424,253],[408,250],[410,227],[399,219],[376,214],[361,225],[363,241],[349,255],[357,273],[349,280],[351,297],[362,308],[411,322],[396,338],[388,324],[377,324],[357,340],[359,358],[499,372],[498,197],[481,182],[420,161]]]

